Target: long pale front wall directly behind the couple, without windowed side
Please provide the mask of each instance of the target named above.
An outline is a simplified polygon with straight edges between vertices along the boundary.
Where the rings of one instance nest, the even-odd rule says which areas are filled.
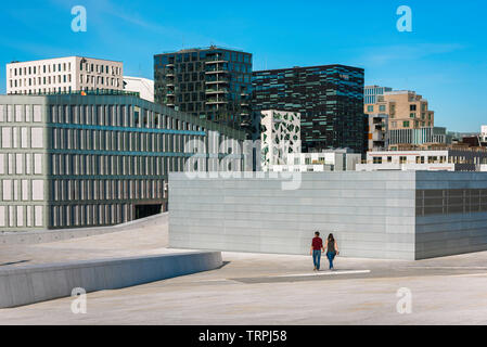
[[[275,175],[277,176],[277,175]],[[333,232],[348,257],[414,259],[414,172],[300,174],[285,179],[169,176],[169,245],[308,254]]]

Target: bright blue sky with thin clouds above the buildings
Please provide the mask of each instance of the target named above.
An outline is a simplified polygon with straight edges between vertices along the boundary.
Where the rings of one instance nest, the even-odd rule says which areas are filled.
[[[87,9],[74,33],[71,9]],[[412,33],[399,33],[399,5]],[[219,44],[254,53],[254,69],[322,64],[366,68],[366,83],[415,90],[436,125],[479,131],[487,124],[485,0],[31,0],[2,3],[4,64],[85,55],[123,61],[125,74],[153,77],[153,55]]]

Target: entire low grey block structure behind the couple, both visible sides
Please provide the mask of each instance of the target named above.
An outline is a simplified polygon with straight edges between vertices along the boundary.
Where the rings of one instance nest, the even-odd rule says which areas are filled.
[[[307,254],[333,232],[346,257],[424,259],[487,249],[487,174],[312,172],[169,176],[169,244]],[[287,174],[290,175],[290,174]]]

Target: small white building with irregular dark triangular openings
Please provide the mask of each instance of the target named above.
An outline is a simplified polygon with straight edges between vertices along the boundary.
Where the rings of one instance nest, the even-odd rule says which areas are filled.
[[[300,152],[300,115],[296,112],[261,111],[261,168],[286,164],[289,153]]]

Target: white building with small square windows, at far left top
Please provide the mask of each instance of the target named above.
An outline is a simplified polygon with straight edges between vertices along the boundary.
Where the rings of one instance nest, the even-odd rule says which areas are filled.
[[[121,62],[67,56],[7,64],[8,94],[123,90]]]

